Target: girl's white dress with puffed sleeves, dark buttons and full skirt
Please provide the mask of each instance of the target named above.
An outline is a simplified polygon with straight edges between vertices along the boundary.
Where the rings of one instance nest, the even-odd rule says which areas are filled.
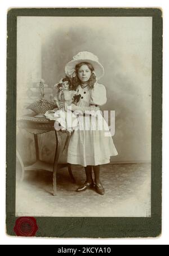
[[[85,107],[89,107],[91,104],[101,106],[106,103],[105,86],[97,82],[92,89],[88,86],[82,88],[81,85],[79,85],[77,92],[81,94],[81,98],[77,104],[81,109],[85,109]],[[81,115],[81,121],[84,121],[84,118],[86,117]],[[118,155],[112,135],[109,134],[110,136],[107,136],[107,133],[110,133],[110,131],[108,131],[108,124],[103,116],[99,114],[95,118],[97,128],[92,129],[92,116],[88,118],[88,130],[74,130],[70,135],[67,162],[82,166],[108,164],[110,162],[110,156]],[[104,129],[102,130],[98,129],[97,126],[98,122],[100,122],[99,120],[104,123]]]

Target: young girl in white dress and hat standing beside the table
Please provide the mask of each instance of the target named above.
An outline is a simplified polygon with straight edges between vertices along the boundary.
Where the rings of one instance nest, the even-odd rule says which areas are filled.
[[[72,111],[83,113],[81,120],[86,118],[86,111],[98,111],[99,106],[106,103],[105,86],[97,82],[104,75],[104,68],[97,56],[87,51],[79,52],[66,64],[65,73],[72,78],[73,90],[81,95],[77,105],[71,104],[69,107]],[[110,134],[105,136],[105,130],[97,127],[103,116],[96,116],[96,129],[92,129],[92,116],[90,115],[89,118],[90,129],[84,127],[83,130],[74,130],[70,135],[67,161],[70,164],[82,165],[86,172],[86,182],[77,188],[77,192],[95,187],[97,193],[104,195],[104,187],[100,182],[100,165],[109,163],[110,156],[118,153],[112,136]],[[104,118],[103,122],[105,122]]]

